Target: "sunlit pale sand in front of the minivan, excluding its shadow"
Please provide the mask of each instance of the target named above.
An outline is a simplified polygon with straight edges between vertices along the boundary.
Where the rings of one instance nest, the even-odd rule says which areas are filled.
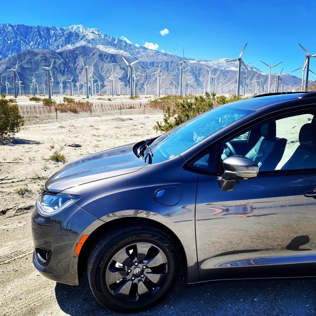
[[[47,158],[60,150],[73,161],[155,136],[153,126],[161,119],[161,114],[126,115],[30,124],[16,134],[13,144],[0,146],[0,315],[60,311],[56,283],[39,275],[31,256],[30,212],[46,179],[63,166]],[[82,147],[66,146],[72,143]],[[16,192],[21,189],[24,195]]]

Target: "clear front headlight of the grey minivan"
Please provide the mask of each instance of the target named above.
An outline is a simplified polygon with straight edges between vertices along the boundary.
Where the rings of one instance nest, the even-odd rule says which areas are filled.
[[[38,198],[36,205],[43,215],[51,216],[74,204],[79,199],[80,196],[78,195],[45,193]]]

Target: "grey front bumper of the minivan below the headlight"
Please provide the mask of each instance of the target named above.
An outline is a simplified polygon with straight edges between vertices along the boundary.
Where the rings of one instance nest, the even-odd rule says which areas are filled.
[[[78,285],[76,246],[83,235],[89,235],[104,222],[76,204],[52,216],[43,216],[34,207],[32,234],[34,247],[49,250],[48,264],[43,266],[33,253],[33,264],[41,274],[60,283]]]

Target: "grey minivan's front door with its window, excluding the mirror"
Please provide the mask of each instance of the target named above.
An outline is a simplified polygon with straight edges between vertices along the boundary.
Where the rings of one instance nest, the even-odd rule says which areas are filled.
[[[280,154],[273,146],[269,153],[255,148],[259,158],[254,160],[259,159],[265,172],[259,167],[256,179],[239,180],[233,191],[222,191],[219,177],[199,174],[196,239],[200,281],[301,276],[308,271],[297,269],[298,264],[316,263],[316,200],[304,196],[316,188],[316,143],[306,133],[309,129],[316,133],[312,120],[312,114],[302,114],[272,124],[276,131],[271,133],[276,137],[269,141],[278,146],[277,141],[286,138],[285,149]],[[277,155],[280,159],[269,172],[271,157]],[[276,269],[280,265],[281,271]]]

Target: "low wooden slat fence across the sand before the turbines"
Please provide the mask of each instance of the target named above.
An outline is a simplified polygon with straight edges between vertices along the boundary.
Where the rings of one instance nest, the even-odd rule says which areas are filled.
[[[78,102],[75,104],[60,103],[46,106],[43,103],[19,104],[19,111],[25,122],[66,119],[82,116],[101,116],[119,114],[162,113],[161,103],[141,101],[100,101]]]

